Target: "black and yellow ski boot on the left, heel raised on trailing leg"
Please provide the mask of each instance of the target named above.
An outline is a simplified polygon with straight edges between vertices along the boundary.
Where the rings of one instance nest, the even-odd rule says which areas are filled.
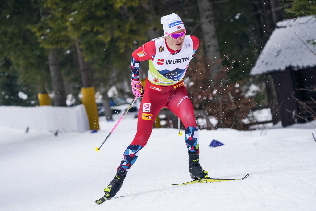
[[[105,202],[106,200],[111,199],[113,196],[116,195],[117,192],[119,192],[119,189],[121,189],[123,185],[123,181],[125,180],[127,171],[126,172],[120,172],[118,171],[110,182],[110,184],[104,189],[104,196],[100,198],[99,200],[96,200],[95,203],[101,204]]]

